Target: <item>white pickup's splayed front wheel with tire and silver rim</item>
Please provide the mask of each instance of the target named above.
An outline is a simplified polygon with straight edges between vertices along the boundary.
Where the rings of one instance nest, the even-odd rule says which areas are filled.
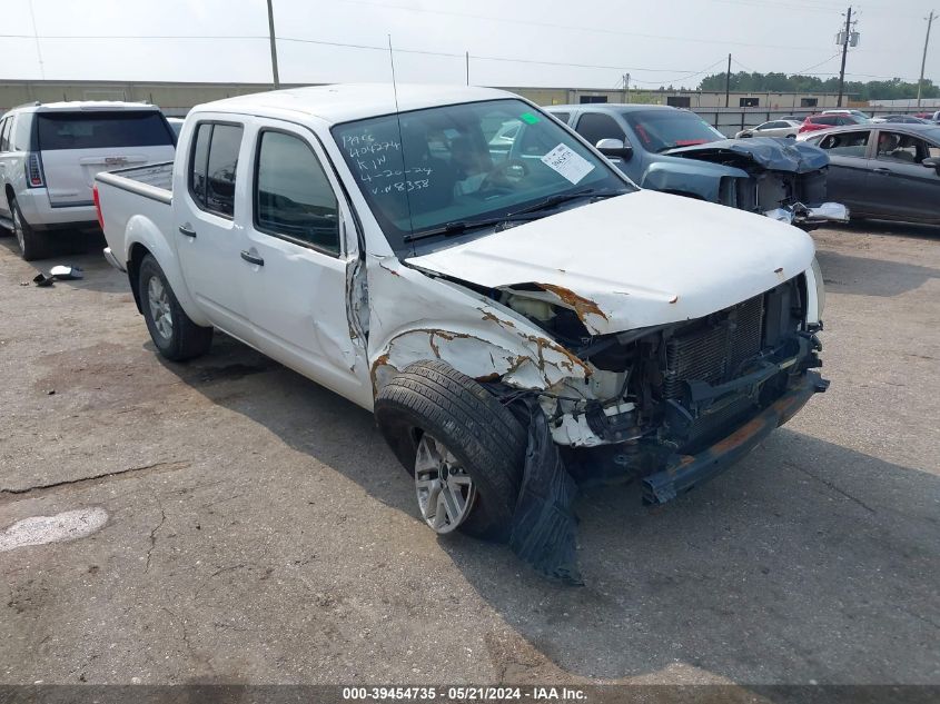
[[[375,416],[432,529],[508,538],[528,433],[496,396],[444,361],[418,361],[382,388]]]

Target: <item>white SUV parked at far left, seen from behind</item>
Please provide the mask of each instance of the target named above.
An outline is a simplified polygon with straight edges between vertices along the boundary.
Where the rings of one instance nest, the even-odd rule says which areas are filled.
[[[56,230],[98,227],[91,187],[99,171],[174,158],[176,138],[156,106],[53,102],[0,118],[0,227],[23,259],[52,254]]]

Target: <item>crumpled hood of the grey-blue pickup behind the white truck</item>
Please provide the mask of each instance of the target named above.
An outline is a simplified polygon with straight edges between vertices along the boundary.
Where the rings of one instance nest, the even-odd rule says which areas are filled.
[[[671,157],[721,161],[738,166],[744,159],[771,171],[807,173],[829,166],[829,156],[819,147],[782,137],[752,137],[750,139],[723,139],[681,147],[666,152]]]

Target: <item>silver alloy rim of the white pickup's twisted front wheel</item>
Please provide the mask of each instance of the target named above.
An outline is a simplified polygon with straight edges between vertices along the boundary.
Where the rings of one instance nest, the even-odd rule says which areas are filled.
[[[425,433],[415,457],[415,492],[422,518],[439,534],[466,520],[476,499],[476,484],[447,447]]]

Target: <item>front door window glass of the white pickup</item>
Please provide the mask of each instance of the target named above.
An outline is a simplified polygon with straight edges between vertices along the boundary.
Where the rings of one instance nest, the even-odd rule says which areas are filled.
[[[319,159],[304,140],[278,131],[261,132],[255,178],[255,227],[275,237],[339,254],[336,194]]]

